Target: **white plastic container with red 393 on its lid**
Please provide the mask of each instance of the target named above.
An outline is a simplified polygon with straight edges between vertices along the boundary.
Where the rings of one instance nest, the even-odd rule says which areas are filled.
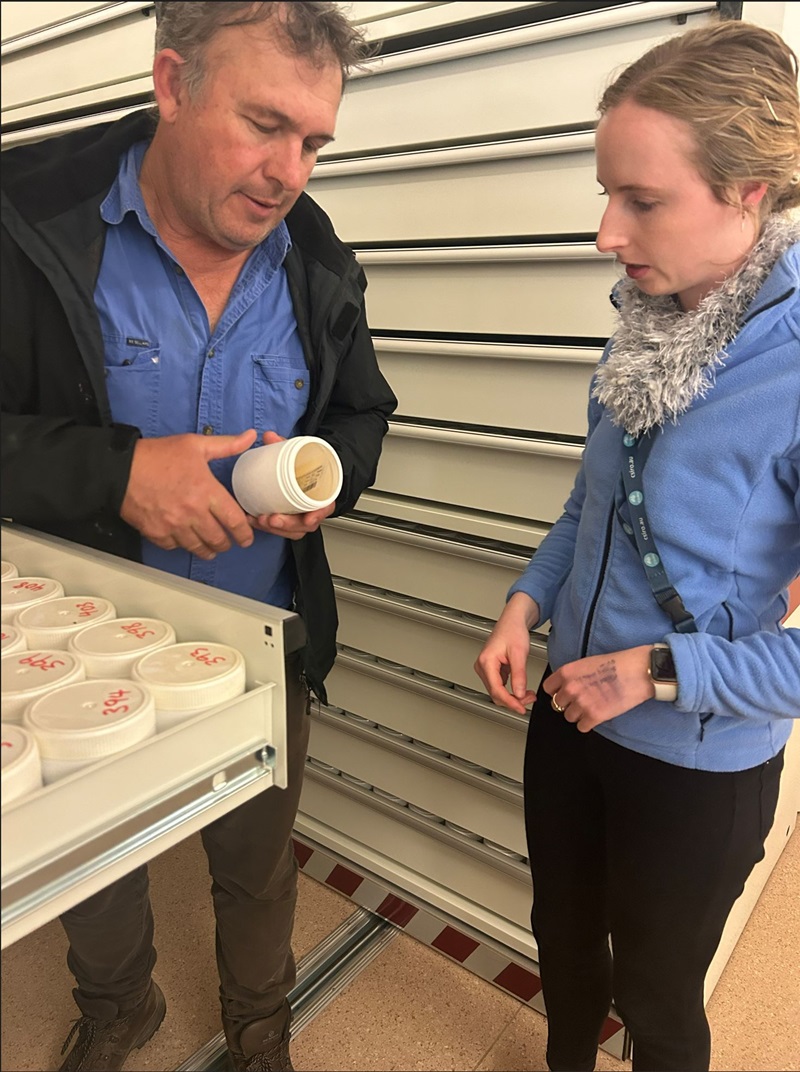
[[[134,666],[131,676],[152,693],[155,725],[162,732],[201,711],[241,696],[247,671],[236,649],[193,641],[171,644],[145,655]]]

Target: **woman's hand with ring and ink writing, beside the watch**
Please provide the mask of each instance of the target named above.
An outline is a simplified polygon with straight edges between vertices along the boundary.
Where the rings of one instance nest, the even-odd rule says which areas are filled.
[[[591,655],[567,662],[544,682],[568,723],[588,733],[601,723],[655,696],[648,668],[652,644],[628,647],[610,655]]]

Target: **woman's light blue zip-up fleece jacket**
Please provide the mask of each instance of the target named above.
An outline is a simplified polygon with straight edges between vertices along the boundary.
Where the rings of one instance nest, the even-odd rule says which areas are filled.
[[[706,771],[770,759],[800,717],[800,629],[781,625],[800,574],[800,244],[726,351],[708,394],[653,433],[643,472],[655,544],[699,631],[671,630],[622,530],[623,432],[594,399],[564,513],[508,593],[551,620],[553,669],[667,642],[678,700],[648,700],[594,732]]]

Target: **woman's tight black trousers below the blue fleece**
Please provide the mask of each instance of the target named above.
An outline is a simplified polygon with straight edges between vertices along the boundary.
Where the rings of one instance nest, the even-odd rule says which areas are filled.
[[[637,1072],[709,1068],[706,972],[764,857],[782,768],[783,753],[723,773],[651,759],[579,732],[539,690],[525,823],[551,1070],[594,1068],[612,999]]]

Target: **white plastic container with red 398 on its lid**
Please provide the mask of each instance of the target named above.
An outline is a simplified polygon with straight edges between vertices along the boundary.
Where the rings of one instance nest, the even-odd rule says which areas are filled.
[[[143,655],[175,643],[175,629],[158,617],[118,617],[89,625],[70,638],[87,678],[130,678]]]

